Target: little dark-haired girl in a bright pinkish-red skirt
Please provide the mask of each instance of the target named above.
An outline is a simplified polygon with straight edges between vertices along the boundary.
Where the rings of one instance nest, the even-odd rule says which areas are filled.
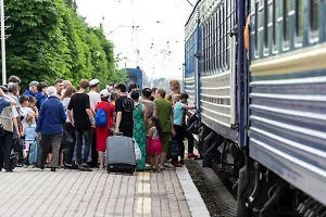
[[[161,143],[163,130],[160,119],[156,116],[152,116],[149,124],[151,128],[148,130],[147,135],[149,138],[147,152],[150,157],[150,169],[154,169],[155,167],[155,169],[161,170],[159,167],[159,154],[163,152],[163,146]]]

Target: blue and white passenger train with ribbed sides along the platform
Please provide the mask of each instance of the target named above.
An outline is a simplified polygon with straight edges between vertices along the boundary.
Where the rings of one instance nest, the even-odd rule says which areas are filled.
[[[237,216],[326,216],[326,1],[199,0],[185,37],[203,166]]]

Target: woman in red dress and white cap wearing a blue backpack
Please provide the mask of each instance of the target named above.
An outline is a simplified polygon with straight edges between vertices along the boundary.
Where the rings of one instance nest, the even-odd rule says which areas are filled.
[[[103,163],[103,152],[106,150],[106,138],[110,137],[109,129],[113,126],[113,118],[115,117],[115,106],[113,103],[110,103],[109,91],[106,89],[100,92],[101,102],[96,104],[95,111],[98,112],[99,108],[102,108],[106,113],[106,126],[96,127],[97,136],[97,150],[99,152],[100,158],[100,168],[104,168]]]

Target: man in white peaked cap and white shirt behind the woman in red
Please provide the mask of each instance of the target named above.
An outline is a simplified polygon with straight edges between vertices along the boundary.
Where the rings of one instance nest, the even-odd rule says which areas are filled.
[[[89,105],[90,105],[92,115],[95,116],[96,104],[101,101],[101,95],[99,93],[99,90],[100,90],[99,79],[95,78],[95,79],[90,80],[89,88],[90,88],[90,91],[88,92]],[[91,161],[92,161],[90,163],[91,167],[98,167],[98,158],[99,158],[99,155],[97,152],[97,137],[96,137],[95,130],[93,130],[92,131],[92,141],[91,141]]]

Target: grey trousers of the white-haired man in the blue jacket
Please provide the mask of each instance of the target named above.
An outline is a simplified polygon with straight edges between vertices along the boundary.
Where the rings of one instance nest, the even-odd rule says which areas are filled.
[[[42,142],[41,142],[42,156],[41,156],[41,165],[40,165],[41,168],[45,167],[46,165],[50,146],[52,148],[52,157],[51,157],[50,167],[51,168],[58,167],[61,139],[62,139],[62,132],[59,135],[42,135]]]

